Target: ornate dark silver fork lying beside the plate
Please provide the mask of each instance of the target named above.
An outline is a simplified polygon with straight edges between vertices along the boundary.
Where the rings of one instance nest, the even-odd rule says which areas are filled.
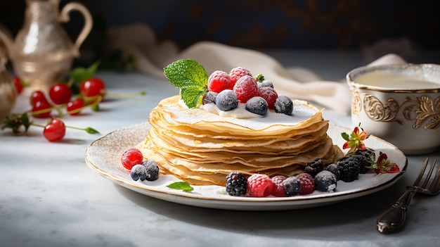
[[[415,195],[415,193],[419,192],[427,195],[436,195],[440,192],[440,165],[437,167],[434,178],[430,179],[432,173],[434,172],[434,167],[436,165],[436,159],[434,159],[434,163],[432,163],[427,175],[425,175],[425,171],[428,167],[429,158],[425,160],[422,168],[420,169],[419,175],[415,179],[413,186],[406,186],[406,191],[392,205],[389,210],[385,211],[380,217],[377,219],[377,230],[382,233],[394,232],[396,229],[405,224],[406,212],[408,210],[408,206],[410,205],[411,199]],[[425,176],[424,176],[425,175]]]

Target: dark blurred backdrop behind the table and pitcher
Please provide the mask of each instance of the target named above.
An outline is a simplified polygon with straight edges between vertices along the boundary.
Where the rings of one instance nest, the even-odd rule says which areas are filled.
[[[60,1],[60,7],[70,1]],[[440,1],[171,1],[79,0],[93,15],[84,49],[106,56],[108,27],[145,23],[157,41],[171,39],[181,49],[209,40],[250,49],[359,50],[384,39],[410,42],[418,51],[439,50]],[[15,35],[25,1],[0,0],[0,23]],[[82,17],[72,13],[65,29],[76,37]]]

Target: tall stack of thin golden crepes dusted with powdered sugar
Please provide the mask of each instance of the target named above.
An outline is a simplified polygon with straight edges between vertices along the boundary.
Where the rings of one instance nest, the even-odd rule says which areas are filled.
[[[322,110],[294,101],[292,115],[221,117],[188,108],[180,96],[163,99],[148,118],[151,128],[138,145],[162,173],[193,185],[226,184],[230,172],[292,176],[314,158],[332,163],[342,151],[327,134]]]

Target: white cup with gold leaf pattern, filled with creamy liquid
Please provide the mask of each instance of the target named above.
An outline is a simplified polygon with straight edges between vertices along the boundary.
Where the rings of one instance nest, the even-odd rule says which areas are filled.
[[[407,155],[440,148],[440,65],[365,66],[347,83],[354,125]]]

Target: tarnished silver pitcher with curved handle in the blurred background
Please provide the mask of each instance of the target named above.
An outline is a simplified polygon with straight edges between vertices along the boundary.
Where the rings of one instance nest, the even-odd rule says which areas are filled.
[[[59,0],[27,0],[26,3],[25,22],[15,41],[1,30],[0,39],[8,50],[15,73],[30,87],[48,89],[71,70],[93,20],[82,4],[72,2],[59,11]],[[60,25],[70,20],[71,11],[79,11],[84,16],[84,27],[75,43]]]

